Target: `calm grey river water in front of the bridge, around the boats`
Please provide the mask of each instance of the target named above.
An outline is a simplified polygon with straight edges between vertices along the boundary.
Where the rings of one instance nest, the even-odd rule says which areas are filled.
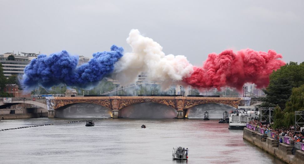
[[[2,120],[0,129],[54,125],[0,131],[0,163],[282,163],[218,120],[72,120],[84,118]],[[188,147],[188,161],[172,160],[178,146]]]

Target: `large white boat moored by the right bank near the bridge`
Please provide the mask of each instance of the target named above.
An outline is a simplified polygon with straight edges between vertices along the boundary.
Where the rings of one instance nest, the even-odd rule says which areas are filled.
[[[255,107],[239,107],[230,113],[228,129],[244,129],[247,122],[254,120],[258,116]]]

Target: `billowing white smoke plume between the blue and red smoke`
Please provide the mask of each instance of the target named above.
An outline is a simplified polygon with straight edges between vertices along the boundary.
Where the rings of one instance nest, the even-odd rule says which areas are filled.
[[[132,52],[125,53],[114,65],[114,79],[122,85],[134,82],[140,72],[147,72],[150,81],[160,82],[162,88],[180,82],[193,73],[187,57],[165,55],[162,46],[132,29],[126,39]]]

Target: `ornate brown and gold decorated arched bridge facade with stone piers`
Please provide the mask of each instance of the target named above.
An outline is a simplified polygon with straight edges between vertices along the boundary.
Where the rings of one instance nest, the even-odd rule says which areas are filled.
[[[246,97],[245,97],[246,98]],[[118,118],[119,111],[136,103],[155,102],[164,104],[177,110],[177,117],[184,118],[188,108],[206,104],[206,103],[219,103],[226,104],[237,108],[250,104],[250,99],[241,97],[150,97],[150,96],[111,96],[111,97],[48,97],[46,99],[49,118],[56,117],[56,111],[62,110],[75,103],[93,103],[98,104],[112,110],[112,117]]]

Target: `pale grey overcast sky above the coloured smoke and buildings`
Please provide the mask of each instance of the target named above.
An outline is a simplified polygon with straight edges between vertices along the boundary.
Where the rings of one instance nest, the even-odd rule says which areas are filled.
[[[0,0],[0,53],[67,50],[91,57],[112,44],[131,51],[132,28],[166,54],[202,65],[227,48],[274,49],[303,62],[304,1]]]

